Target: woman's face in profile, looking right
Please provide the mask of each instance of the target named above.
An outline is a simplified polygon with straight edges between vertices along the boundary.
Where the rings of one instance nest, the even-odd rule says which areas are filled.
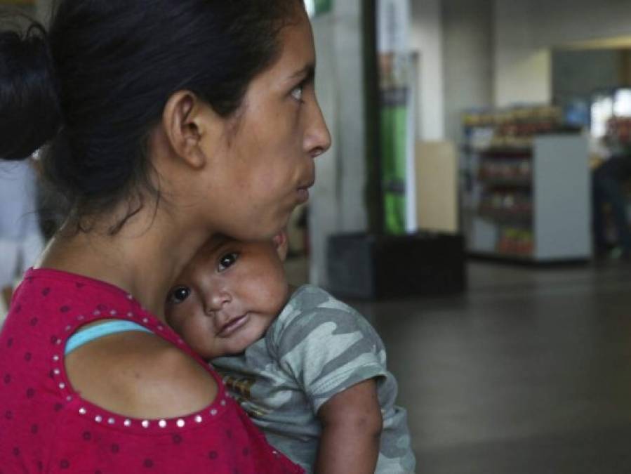
[[[220,147],[208,143],[208,183],[216,232],[236,239],[272,237],[309,198],[314,158],[331,136],[314,91],[315,53],[305,13],[281,30],[274,64],[248,86]]]

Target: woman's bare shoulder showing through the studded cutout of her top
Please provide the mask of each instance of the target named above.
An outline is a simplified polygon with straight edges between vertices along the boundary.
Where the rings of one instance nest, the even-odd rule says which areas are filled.
[[[72,390],[109,412],[168,419],[213,403],[218,383],[199,362],[162,338],[138,331],[105,336],[65,357]]]

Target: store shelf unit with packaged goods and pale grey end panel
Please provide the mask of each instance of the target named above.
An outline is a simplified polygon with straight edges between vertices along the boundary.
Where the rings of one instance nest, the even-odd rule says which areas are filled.
[[[491,148],[465,156],[472,164],[463,195],[470,254],[522,263],[589,260],[587,148],[584,136],[546,133],[528,150]]]

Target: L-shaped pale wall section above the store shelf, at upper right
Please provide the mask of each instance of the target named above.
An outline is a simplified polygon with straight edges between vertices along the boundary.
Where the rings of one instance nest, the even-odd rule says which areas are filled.
[[[550,48],[631,35],[628,0],[494,0],[496,105],[552,99]]]

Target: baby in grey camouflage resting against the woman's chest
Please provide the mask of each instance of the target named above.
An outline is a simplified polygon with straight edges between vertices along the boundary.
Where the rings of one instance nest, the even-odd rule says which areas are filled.
[[[291,289],[286,252],[284,232],[272,242],[214,237],[171,289],[168,323],[308,473],[413,473],[382,341],[326,291]]]

